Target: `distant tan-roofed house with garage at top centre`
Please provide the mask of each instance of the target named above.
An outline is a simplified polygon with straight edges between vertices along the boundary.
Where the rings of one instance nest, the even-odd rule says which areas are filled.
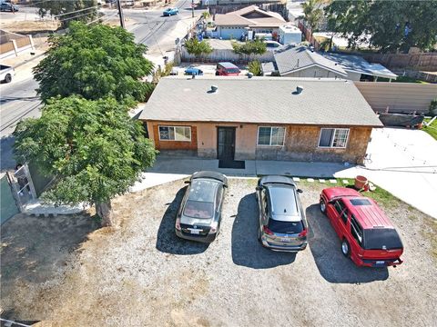
[[[222,39],[239,39],[242,35],[278,35],[279,26],[286,23],[280,14],[261,10],[256,5],[228,14],[217,14],[214,22],[217,26],[215,35]]]

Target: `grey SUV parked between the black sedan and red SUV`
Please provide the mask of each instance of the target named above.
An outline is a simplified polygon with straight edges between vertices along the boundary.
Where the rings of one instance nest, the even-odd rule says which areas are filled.
[[[296,183],[286,176],[264,176],[257,186],[259,242],[275,251],[298,252],[307,247],[308,223]]]

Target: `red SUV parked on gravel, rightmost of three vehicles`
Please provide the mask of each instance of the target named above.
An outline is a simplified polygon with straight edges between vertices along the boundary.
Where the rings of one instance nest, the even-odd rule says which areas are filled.
[[[401,238],[374,200],[350,188],[331,187],[320,194],[320,210],[339,235],[341,252],[358,266],[402,263]]]

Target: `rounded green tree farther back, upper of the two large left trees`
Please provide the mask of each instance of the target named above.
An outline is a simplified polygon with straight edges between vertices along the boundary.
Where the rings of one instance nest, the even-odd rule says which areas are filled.
[[[134,35],[121,27],[72,23],[66,35],[49,38],[50,49],[34,68],[41,99],[82,95],[96,100],[113,96],[118,102],[144,101],[153,90],[141,79],[153,64]]]

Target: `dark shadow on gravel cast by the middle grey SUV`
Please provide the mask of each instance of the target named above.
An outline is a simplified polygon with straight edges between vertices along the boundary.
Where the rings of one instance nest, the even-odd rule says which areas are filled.
[[[254,269],[293,263],[296,253],[274,252],[259,243],[258,217],[255,193],[250,193],[239,201],[238,213],[232,225],[232,261]]]

